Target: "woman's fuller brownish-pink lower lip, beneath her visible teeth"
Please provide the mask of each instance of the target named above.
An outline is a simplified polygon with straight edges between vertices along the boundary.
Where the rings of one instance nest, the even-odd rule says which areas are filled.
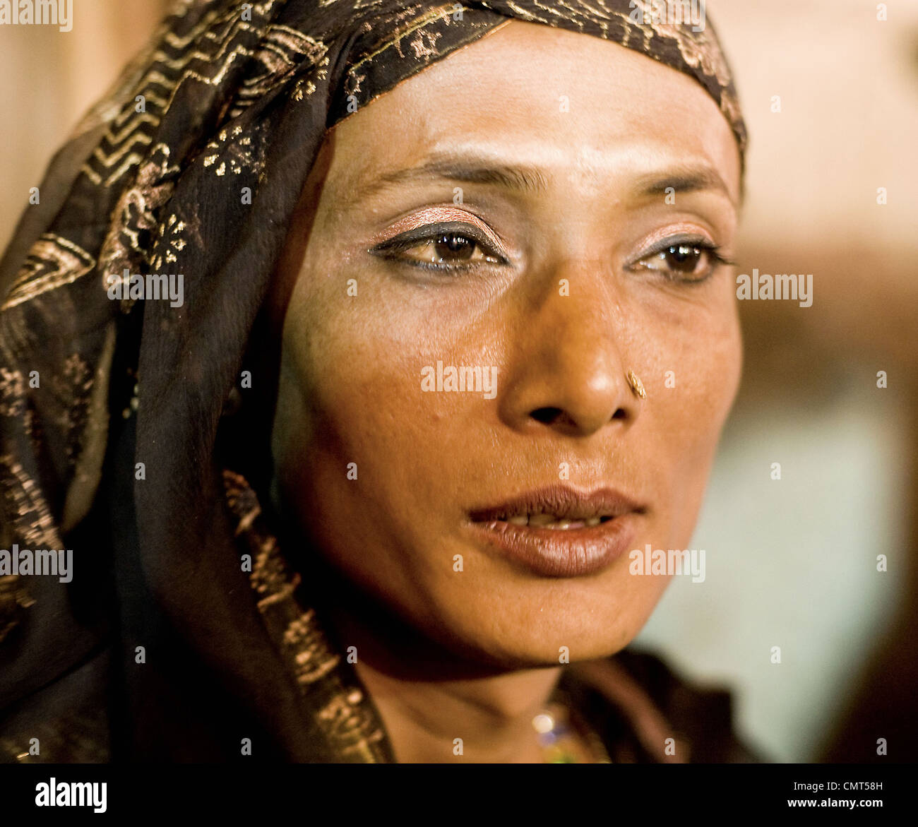
[[[639,512],[631,511],[582,529],[518,526],[502,520],[473,522],[469,529],[532,574],[579,577],[601,571],[633,546],[640,519]]]

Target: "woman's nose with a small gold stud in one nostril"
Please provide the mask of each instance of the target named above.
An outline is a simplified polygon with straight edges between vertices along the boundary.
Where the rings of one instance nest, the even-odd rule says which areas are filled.
[[[640,412],[610,276],[586,270],[556,269],[521,310],[499,395],[501,419],[515,430],[588,436],[610,422],[627,427]]]

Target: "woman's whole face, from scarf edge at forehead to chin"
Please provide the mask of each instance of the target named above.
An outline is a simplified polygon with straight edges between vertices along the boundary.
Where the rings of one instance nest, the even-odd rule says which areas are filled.
[[[517,21],[342,121],[278,277],[277,481],[321,553],[489,663],[629,643],[669,579],[629,552],[688,547],[739,382],[739,175],[688,76]]]

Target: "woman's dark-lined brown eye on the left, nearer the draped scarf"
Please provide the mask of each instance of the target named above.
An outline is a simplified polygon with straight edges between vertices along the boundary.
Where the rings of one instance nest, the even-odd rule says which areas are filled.
[[[420,228],[377,244],[371,251],[397,262],[453,270],[476,264],[507,263],[493,247],[470,229]]]

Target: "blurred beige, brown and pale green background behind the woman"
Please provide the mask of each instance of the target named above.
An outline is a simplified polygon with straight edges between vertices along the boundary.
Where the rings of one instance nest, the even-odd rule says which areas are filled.
[[[71,32],[0,27],[0,249],[51,154],[167,6],[75,0]],[[812,273],[813,302],[740,303],[744,384],[691,544],[706,551],[707,578],[674,578],[634,646],[732,687],[737,728],[767,760],[909,760],[918,3],[707,10],[751,134],[737,272]]]

